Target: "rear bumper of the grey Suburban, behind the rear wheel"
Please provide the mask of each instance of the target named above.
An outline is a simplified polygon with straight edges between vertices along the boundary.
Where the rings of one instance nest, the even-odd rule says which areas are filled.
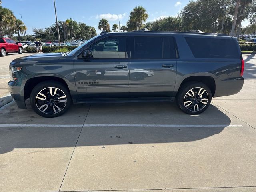
[[[216,90],[214,97],[234,95],[240,92],[244,85],[243,77],[217,78],[215,79]]]

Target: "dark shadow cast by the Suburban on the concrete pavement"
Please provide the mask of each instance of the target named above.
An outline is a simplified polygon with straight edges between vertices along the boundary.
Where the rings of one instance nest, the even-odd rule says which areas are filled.
[[[14,106],[16,108],[16,106]],[[84,122],[88,106],[74,105],[64,116],[69,124]],[[28,110],[30,114],[31,109]],[[3,118],[20,118],[19,109],[14,114],[0,114]],[[77,114],[76,116],[74,114]],[[5,117],[6,116],[6,117]],[[78,116],[84,120],[78,121]],[[23,117],[26,117],[24,114]],[[22,117],[21,117],[22,118]],[[54,118],[37,116],[44,124],[53,124]],[[57,119],[57,121],[56,121]],[[56,118],[55,124],[62,124]],[[229,125],[230,118],[213,105],[198,116],[181,112],[174,103],[137,103],[92,105],[85,124],[222,124]],[[3,124],[3,123],[1,123]],[[15,124],[15,123],[10,123]],[[30,124],[36,124],[31,122]],[[42,123],[40,123],[42,124]],[[82,123],[83,124],[83,123]],[[0,154],[16,148],[62,148],[77,146],[106,146],[121,144],[154,144],[169,142],[190,142],[204,139],[222,132],[222,127],[13,127],[0,128]],[[82,129],[82,132],[81,132]],[[81,134],[80,134],[81,132]],[[80,136],[79,136],[80,135]],[[36,149],[35,149],[36,150]]]

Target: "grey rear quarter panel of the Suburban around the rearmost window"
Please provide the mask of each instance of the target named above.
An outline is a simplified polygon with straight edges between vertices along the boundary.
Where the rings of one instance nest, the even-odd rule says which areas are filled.
[[[231,38],[223,36],[201,36],[200,38]],[[198,35],[175,34],[174,37],[180,56],[180,58],[177,59],[177,76],[174,91],[178,91],[182,81],[191,76],[210,76],[214,78],[216,90],[222,80],[232,80],[240,77],[240,58],[195,58],[184,37],[198,37]],[[234,42],[233,46],[238,46],[236,44],[237,43]],[[238,46],[238,56],[240,56],[240,54],[241,52]],[[230,85],[232,86],[232,84]],[[215,96],[218,96],[218,93],[216,93]]]

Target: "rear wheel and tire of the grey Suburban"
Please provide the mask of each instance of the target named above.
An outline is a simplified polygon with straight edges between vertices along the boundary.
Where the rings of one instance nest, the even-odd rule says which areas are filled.
[[[176,104],[183,112],[196,115],[204,112],[212,101],[212,92],[201,82],[188,82],[182,85],[176,95]]]

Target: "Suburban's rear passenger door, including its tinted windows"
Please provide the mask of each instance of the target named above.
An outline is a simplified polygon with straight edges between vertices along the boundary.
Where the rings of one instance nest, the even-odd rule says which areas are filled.
[[[176,51],[172,37],[134,37],[130,62],[130,96],[173,96],[176,70]]]

